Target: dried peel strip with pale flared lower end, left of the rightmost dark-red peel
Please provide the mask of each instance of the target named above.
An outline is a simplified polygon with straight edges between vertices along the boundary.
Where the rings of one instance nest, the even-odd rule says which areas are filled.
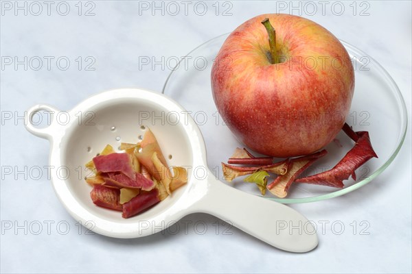
[[[267,186],[268,190],[279,198],[288,195],[290,185],[295,181],[297,176],[304,172],[316,160],[328,153],[325,149],[299,158],[290,159],[288,162],[288,171],[285,175],[278,176],[271,184]]]

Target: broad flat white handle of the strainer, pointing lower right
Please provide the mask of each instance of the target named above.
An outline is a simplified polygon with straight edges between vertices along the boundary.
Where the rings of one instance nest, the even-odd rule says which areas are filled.
[[[227,186],[211,171],[207,175],[207,192],[195,203],[194,210],[217,216],[286,251],[307,252],[318,245],[316,229],[305,216],[282,203]]]

